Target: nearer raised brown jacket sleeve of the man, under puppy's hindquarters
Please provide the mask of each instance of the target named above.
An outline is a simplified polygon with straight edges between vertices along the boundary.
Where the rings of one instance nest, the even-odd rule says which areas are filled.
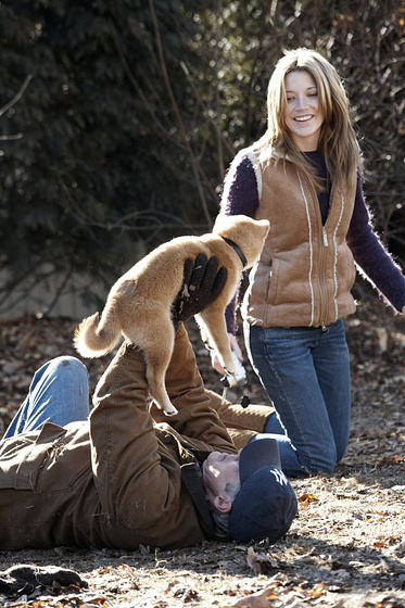
[[[123,343],[93,403],[91,463],[102,515],[113,525],[147,529],[176,510],[181,472],[173,457],[160,452],[139,349]]]

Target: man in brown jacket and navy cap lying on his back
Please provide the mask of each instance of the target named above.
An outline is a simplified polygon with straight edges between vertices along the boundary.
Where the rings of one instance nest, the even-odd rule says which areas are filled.
[[[78,359],[58,357],[36,372],[0,442],[0,549],[166,549],[205,539],[276,542],[287,533],[298,504],[277,441],[257,435],[238,452],[210,407],[181,322],[226,280],[212,259],[193,297],[175,311],[166,387],[176,416],[152,419],[143,355],[126,341],[90,413]]]

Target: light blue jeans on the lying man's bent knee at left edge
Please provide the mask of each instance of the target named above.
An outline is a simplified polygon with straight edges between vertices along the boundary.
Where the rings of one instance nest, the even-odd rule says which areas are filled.
[[[64,427],[89,415],[89,379],[75,357],[56,357],[38,369],[28,395],[11,421],[3,439],[40,430],[45,422]]]

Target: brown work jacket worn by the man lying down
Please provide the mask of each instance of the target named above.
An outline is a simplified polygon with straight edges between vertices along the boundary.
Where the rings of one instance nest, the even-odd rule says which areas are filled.
[[[142,354],[123,344],[89,421],[0,443],[1,549],[172,548],[215,537],[194,456],[236,447],[210,408],[218,400],[204,390],[182,326],[166,382],[179,410],[170,426],[153,422]]]

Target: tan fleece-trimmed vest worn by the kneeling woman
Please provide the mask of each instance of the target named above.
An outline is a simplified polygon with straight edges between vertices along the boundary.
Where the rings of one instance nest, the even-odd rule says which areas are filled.
[[[319,327],[354,313],[355,266],[345,237],[355,191],[332,187],[322,227],[315,189],[295,165],[280,161],[261,169],[255,217],[269,219],[270,231],[250,275],[243,318],[262,327]]]

